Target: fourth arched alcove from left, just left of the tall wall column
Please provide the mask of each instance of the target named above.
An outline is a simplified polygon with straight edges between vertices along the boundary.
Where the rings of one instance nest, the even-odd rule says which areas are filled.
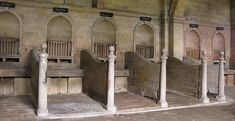
[[[142,24],[134,31],[135,51],[145,58],[154,58],[154,31],[147,25]]]

